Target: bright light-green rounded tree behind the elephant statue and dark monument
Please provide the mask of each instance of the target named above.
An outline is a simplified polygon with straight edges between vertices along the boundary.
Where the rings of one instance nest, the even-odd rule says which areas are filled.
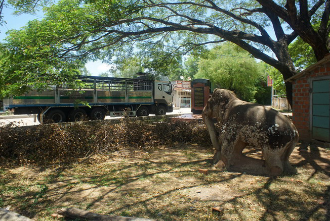
[[[260,66],[249,53],[232,43],[224,43],[211,49],[207,59],[201,59],[195,78],[206,78],[221,88],[252,101],[257,92],[255,86],[262,74]]]

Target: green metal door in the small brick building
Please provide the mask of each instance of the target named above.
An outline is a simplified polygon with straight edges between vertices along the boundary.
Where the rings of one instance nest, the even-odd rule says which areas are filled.
[[[330,141],[329,92],[329,79],[313,81],[312,136],[322,141]]]

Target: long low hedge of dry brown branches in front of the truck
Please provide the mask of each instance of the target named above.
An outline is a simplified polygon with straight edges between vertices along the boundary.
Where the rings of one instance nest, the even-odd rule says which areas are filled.
[[[207,128],[197,122],[7,125],[0,127],[0,164],[71,163],[128,146],[150,149],[177,143],[211,146]]]

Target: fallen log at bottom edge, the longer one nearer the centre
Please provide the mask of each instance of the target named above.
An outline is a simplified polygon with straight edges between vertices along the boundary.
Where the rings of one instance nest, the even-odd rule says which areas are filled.
[[[62,208],[57,211],[58,214],[69,218],[83,218],[90,221],[156,221],[155,219],[136,218],[116,215],[101,215],[77,208]]]

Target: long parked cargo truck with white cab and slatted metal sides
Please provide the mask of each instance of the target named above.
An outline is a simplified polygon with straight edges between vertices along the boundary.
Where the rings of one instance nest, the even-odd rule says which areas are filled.
[[[78,76],[79,89],[69,84],[51,86],[50,90],[31,90],[4,99],[4,109],[14,115],[37,114],[39,122],[62,123],[83,119],[103,120],[106,115],[148,116],[173,112],[173,85],[166,76],[148,80],[131,78]]]

